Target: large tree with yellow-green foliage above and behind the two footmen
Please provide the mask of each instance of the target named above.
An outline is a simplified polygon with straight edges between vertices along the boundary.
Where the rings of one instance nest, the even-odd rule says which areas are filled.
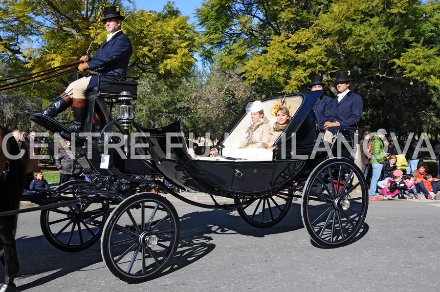
[[[331,81],[350,69],[363,125],[440,127],[438,0],[209,0],[198,19],[211,54],[223,67],[238,65],[248,83],[295,92],[307,90],[312,75]],[[390,115],[396,104],[408,113]],[[421,112],[423,126],[411,119]]]

